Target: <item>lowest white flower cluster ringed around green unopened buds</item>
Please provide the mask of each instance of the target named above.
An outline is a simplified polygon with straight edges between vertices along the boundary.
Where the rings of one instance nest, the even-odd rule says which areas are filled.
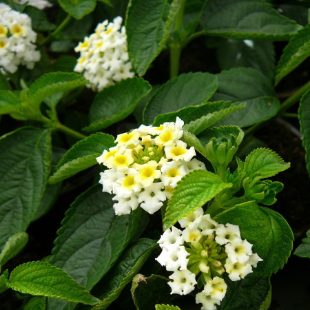
[[[168,282],[172,293],[186,295],[195,285],[204,287],[196,294],[196,303],[204,310],[216,309],[227,291],[221,275],[227,272],[230,280],[240,280],[262,259],[240,238],[238,226],[218,224],[202,208],[179,223],[183,230],[172,227],[158,240],[163,251],[156,260],[173,271]]]

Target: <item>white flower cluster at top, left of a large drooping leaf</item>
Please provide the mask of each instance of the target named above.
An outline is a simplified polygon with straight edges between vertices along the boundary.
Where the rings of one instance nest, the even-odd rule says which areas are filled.
[[[96,90],[134,76],[130,71],[132,64],[127,52],[125,27],[121,27],[121,23],[121,17],[111,23],[107,20],[99,23],[95,32],[74,49],[81,53],[74,71],[83,72]]]

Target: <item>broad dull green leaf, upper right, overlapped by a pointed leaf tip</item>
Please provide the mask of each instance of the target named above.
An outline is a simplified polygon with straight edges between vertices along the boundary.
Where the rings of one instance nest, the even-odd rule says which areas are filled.
[[[219,125],[240,127],[265,121],[279,110],[278,99],[270,79],[252,68],[224,70],[218,76],[218,90],[212,100],[238,101],[245,107],[234,112]]]

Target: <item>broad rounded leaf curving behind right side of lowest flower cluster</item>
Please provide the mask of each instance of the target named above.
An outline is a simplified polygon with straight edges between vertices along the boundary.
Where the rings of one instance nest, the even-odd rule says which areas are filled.
[[[214,220],[240,227],[242,239],[247,239],[253,252],[263,259],[254,269],[256,276],[269,277],[287,262],[293,248],[293,233],[276,211],[250,201],[223,211]]]

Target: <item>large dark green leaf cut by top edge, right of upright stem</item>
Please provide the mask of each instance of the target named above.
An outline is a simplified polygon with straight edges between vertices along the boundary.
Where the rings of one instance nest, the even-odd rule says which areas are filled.
[[[231,39],[287,40],[301,27],[261,0],[209,0],[200,24]]]

